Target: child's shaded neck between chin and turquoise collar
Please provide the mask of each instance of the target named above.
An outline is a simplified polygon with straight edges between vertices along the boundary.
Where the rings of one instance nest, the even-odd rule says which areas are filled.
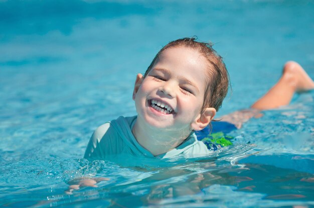
[[[184,132],[181,129],[156,129],[148,126],[147,123],[142,123],[139,119],[136,119],[132,128],[132,133],[137,142],[155,156],[176,148],[190,135],[191,132]]]

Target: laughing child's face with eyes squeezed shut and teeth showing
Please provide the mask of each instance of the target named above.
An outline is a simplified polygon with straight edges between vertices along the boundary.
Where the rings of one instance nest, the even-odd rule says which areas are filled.
[[[137,119],[155,128],[200,130],[208,62],[197,50],[164,50],[145,78],[137,75],[133,99]]]

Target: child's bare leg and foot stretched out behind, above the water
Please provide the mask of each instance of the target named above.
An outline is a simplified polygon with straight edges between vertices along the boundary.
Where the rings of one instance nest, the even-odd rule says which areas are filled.
[[[250,109],[232,112],[221,117],[240,128],[242,123],[251,117],[260,117],[260,110],[272,109],[290,103],[295,92],[314,89],[314,81],[304,69],[294,61],[288,61],[283,66],[283,71],[278,82],[265,95],[259,98]]]

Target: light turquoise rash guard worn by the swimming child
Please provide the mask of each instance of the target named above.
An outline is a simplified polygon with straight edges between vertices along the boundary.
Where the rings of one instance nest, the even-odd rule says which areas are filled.
[[[175,157],[200,157],[213,153],[204,142],[199,141],[195,132],[176,148],[154,156],[147,149],[142,147],[134,135],[132,127],[137,116],[123,117],[111,120],[99,126],[91,136],[87,145],[84,158],[123,160],[129,156],[140,156],[148,158],[175,158]]]

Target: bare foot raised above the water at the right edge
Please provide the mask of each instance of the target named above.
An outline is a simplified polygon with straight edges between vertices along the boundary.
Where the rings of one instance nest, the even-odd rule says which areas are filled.
[[[286,62],[283,66],[282,77],[287,79],[297,92],[314,89],[314,81],[297,62]]]

